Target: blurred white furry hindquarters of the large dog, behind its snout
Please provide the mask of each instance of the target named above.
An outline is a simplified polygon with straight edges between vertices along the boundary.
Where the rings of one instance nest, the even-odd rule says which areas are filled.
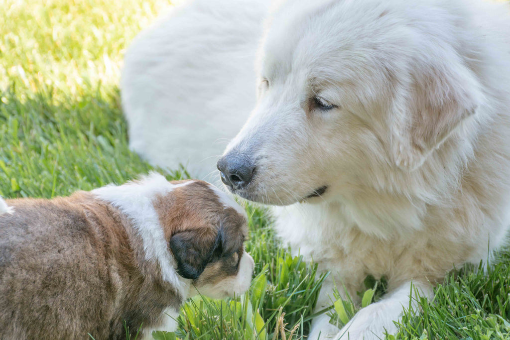
[[[255,104],[267,2],[190,2],[135,39],[120,83],[133,150],[161,167],[216,177],[219,156]]]

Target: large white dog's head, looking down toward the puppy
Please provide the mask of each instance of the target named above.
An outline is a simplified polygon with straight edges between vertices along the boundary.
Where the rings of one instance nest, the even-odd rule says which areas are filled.
[[[280,3],[261,44],[257,106],[218,162],[229,190],[277,205],[352,201],[413,176],[445,141],[460,145],[457,127],[483,97],[462,8]]]

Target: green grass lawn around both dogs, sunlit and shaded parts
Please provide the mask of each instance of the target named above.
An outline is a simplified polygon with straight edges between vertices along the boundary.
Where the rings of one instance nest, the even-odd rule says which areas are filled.
[[[1,195],[68,195],[152,169],[127,147],[117,86],[125,47],[169,7],[166,0],[0,0]],[[229,301],[197,297],[183,308],[176,334],[156,338],[307,334],[324,275],[277,243],[264,210],[246,208],[247,250],[257,263],[250,291]],[[433,302],[404,315],[396,338],[510,339],[509,258],[503,253],[486,274],[450,275]],[[329,311],[339,324],[359,307],[342,305],[345,315]]]

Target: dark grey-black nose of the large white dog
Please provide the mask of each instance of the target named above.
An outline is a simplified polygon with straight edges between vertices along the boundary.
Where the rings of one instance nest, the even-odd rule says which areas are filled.
[[[248,158],[234,152],[224,155],[216,165],[221,181],[232,189],[242,189],[253,177],[255,166]]]

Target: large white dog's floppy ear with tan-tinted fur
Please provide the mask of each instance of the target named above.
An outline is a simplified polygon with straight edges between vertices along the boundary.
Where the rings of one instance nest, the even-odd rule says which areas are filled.
[[[419,168],[480,106],[480,84],[456,58],[410,67],[410,78],[398,91],[393,110],[392,154],[400,169]]]

